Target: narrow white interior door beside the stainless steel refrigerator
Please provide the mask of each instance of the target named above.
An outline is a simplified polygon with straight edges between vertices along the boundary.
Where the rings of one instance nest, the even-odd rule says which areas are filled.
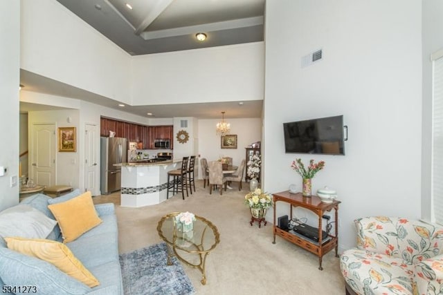
[[[96,144],[97,126],[86,124],[84,128],[84,190],[93,196],[100,194],[98,186],[98,164]]]

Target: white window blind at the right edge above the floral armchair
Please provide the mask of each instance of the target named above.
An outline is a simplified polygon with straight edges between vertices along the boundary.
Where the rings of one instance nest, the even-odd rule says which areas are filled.
[[[443,225],[443,57],[433,61],[432,202],[435,222]]]

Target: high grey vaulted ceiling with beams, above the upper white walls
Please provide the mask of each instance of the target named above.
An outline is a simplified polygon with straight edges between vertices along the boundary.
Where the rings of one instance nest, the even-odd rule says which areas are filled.
[[[130,55],[263,40],[265,0],[57,1]]]

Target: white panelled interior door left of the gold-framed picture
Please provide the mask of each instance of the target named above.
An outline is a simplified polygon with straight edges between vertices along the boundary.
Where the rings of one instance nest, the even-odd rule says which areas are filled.
[[[30,178],[35,184],[55,185],[55,124],[33,124]]]

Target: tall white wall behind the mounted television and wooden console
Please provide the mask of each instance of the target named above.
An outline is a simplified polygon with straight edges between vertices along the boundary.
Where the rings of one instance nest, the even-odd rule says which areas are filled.
[[[338,192],[340,249],[355,245],[356,218],[420,217],[421,10],[413,0],[266,2],[264,189],[301,184],[294,158],[325,160],[313,190]],[[323,61],[301,68],[318,48]],[[283,122],[329,115],[349,126],[345,156],[284,153]]]

